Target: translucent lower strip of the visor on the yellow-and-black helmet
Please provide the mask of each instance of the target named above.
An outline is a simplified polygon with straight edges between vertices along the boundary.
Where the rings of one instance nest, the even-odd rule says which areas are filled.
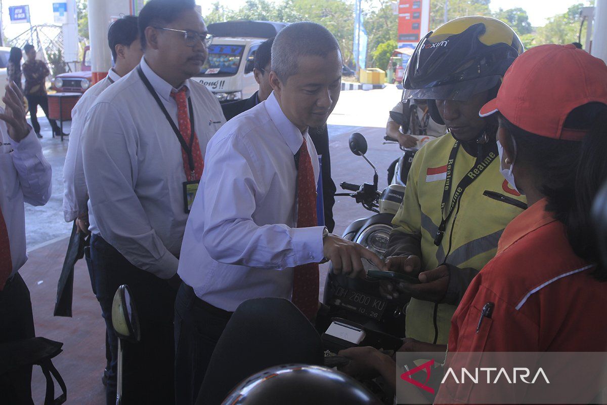
[[[475,94],[493,89],[500,83],[499,75],[480,77],[472,80],[443,84],[423,89],[404,89],[402,100],[422,98],[425,100],[455,100],[467,101]]]

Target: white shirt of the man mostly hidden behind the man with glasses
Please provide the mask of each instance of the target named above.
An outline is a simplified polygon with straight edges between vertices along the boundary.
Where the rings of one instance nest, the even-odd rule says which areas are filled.
[[[84,181],[84,166],[82,165],[81,135],[84,128],[84,118],[98,95],[107,89],[112,82],[120,80],[114,69],[107,76],[86,90],[78,103],[72,109],[72,130],[67,145],[66,162],[63,165],[63,217],[66,222],[72,222],[82,214],[87,213],[89,192]]]

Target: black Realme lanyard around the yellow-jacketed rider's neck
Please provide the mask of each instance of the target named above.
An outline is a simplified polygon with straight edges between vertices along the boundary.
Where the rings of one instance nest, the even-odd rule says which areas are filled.
[[[497,144],[495,144],[487,148],[487,151],[484,154],[478,154],[476,156],[474,166],[472,166],[466,175],[464,175],[463,179],[459,181],[459,184],[455,189],[455,193],[453,194],[453,198],[451,199],[449,212],[447,212],[447,216],[445,217],[445,206],[447,205],[449,195],[451,194],[451,186],[453,185],[453,168],[455,168],[455,158],[457,157],[457,152],[459,151],[459,145],[459,141],[455,141],[453,149],[451,149],[451,153],[449,154],[449,161],[447,162],[447,177],[445,179],[445,187],[443,190],[443,201],[441,202],[441,224],[438,226],[438,231],[436,232],[436,237],[434,238],[434,244],[436,246],[441,244],[447,228],[447,222],[453,214],[453,210],[458,204],[459,199],[461,199],[462,194],[464,194],[466,188],[471,185],[474,180],[478,179],[478,176],[480,176],[483,171],[489,167],[491,162],[493,162],[498,155]]]

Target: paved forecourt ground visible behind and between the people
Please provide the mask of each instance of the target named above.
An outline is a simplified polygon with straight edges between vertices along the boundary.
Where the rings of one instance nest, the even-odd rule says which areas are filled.
[[[379,186],[385,187],[385,171],[396,157],[396,145],[382,145],[388,111],[398,102],[400,91],[394,86],[381,90],[352,90],[342,92],[331,115],[330,148],[334,182],[372,182],[373,169],[362,157],[348,149],[348,137],[361,132],[368,141],[367,157],[379,171]],[[42,115],[39,114],[39,117]],[[26,206],[26,228],[29,261],[19,273],[30,288],[36,334],[64,343],[64,352],[54,363],[66,380],[68,404],[104,404],[101,373],[104,367],[104,324],[101,311],[90,288],[86,265],[80,260],[74,277],[73,318],[53,317],[56,286],[67,248],[71,224],[63,221],[63,162],[67,151],[66,139],[50,137],[46,119],[42,124],[42,147],[53,166],[53,194],[44,207]],[[65,128],[69,132],[69,123]],[[348,197],[338,197],[334,206],[335,233],[341,234],[354,219],[368,216],[362,206]],[[326,271],[326,266],[324,268]],[[320,285],[324,285],[321,274]],[[35,369],[32,387],[36,404],[44,397],[44,378]]]

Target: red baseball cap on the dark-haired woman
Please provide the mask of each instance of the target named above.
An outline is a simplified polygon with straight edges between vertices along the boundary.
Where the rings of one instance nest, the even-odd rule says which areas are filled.
[[[586,131],[563,129],[575,107],[607,104],[607,65],[574,45],[541,45],[523,52],[504,74],[497,97],[479,115],[496,111],[543,137],[582,140]]]

